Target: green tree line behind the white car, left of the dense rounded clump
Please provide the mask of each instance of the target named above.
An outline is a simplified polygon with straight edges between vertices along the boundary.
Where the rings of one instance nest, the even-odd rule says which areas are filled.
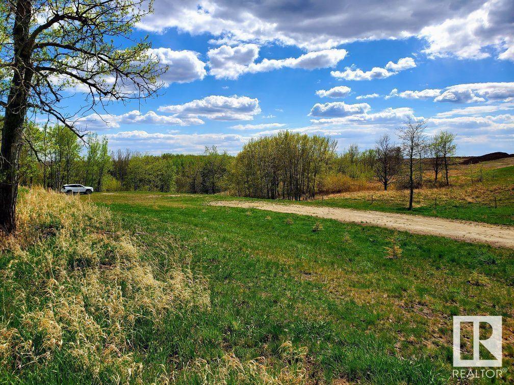
[[[161,191],[216,194],[226,190],[233,157],[216,147],[203,155],[109,152],[96,134],[84,140],[62,125],[28,124],[20,151],[19,182],[58,190],[80,183],[95,191]]]

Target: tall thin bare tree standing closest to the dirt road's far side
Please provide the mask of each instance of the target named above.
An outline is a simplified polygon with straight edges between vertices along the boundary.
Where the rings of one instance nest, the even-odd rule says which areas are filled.
[[[412,210],[414,199],[414,172],[416,157],[419,156],[420,147],[424,146],[424,131],[427,121],[424,119],[408,118],[403,126],[398,129],[398,137],[401,140],[403,156],[407,158],[408,186],[409,186],[409,210]]]

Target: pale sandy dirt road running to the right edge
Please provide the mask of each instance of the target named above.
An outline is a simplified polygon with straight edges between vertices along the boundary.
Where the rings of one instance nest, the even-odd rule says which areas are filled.
[[[310,215],[313,217],[335,219],[341,222],[394,228],[415,234],[436,235],[466,242],[488,243],[493,246],[514,248],[514,227],[512,226],[495,226],[486,223],[453,221],[419,215],[381,213],[379,211],[361,211],[347,208],[303,206],[297,204],[216,201],[212,202],[211,205],[258,208],[261,210],[277,211],[278,213]]]

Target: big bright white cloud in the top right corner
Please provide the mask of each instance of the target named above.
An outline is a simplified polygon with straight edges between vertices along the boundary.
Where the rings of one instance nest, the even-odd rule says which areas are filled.
[[[419,36],[428,42],[431,57],[454,55],[461,59],[483,59],[491,49],[498,59],[514,59],[514,2],[490,0],[462,17],[423,28]]]

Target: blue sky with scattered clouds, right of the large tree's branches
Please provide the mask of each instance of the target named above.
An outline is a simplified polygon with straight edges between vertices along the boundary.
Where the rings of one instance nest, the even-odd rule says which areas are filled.
[[[340,3],[156,0],[135,34],[166,87],[81,125],[113,149],[236,153],[279,129],[369,148],[422,117],[460,155],[514,152],[514,2]]]

